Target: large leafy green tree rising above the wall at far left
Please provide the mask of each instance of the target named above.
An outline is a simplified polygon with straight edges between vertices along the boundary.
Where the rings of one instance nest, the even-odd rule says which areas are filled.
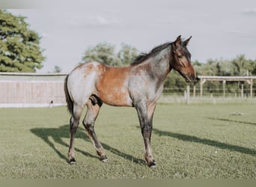
[[[45,59],[40,37],[24,16],[0,10],[0,72],[35,72]]]

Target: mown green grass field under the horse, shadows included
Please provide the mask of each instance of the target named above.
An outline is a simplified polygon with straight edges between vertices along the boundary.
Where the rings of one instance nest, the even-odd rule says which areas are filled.
[[[82,124],[76,165],[67,164],[65,107],[0,108],[0,178],[256,178],[256,105],[159,104],[153,120],[156,168],[143,159],[134,108],[103,105],[95,129],[109,157],[97,157]]]

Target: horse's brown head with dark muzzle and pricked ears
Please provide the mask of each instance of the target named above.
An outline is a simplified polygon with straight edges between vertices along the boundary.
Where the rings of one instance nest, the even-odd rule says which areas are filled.
[[[186,46],[189,43],[189,39],[182,41],[181,36],[177,37],[174,43],[171,43],[171,68],[177,70],[181,76],[186,79],[186,82],[194,82],[196,79],[196,73],[192,67],[190,58],[191,54]]]

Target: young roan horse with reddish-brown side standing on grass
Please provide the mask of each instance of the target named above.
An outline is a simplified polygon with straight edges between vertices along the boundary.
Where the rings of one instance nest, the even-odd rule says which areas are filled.
[[[134,107],[138,114],[144,139],[144,159],[150,168],[156,161],[150,146],[153,113],[156,101],[162,95],[163,82],[172,69],[180,73],[186,82],[197,78],[191,64],[189,43],[181,36],[172,43],[156,46],[149,53],[138,57],[127,67],[112,67],[99,62],[87,62],[74,68],[64,82],[67,109],[70,111],[69,163],[76,163],[74,138],[85,105],[87,111],[82,121],[102,162],[108,158],[94,132],[94,123],[103,103],[114,106]]]

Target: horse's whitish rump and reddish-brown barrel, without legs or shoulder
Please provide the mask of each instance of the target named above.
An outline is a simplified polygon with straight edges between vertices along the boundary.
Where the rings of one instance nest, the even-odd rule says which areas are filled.
[[[132,106],[128,89],[130,68],[111,67],[99,62],[81,64],[69,75],[70,95],[82,105],[91,95],[96,95],[109,105]]]

